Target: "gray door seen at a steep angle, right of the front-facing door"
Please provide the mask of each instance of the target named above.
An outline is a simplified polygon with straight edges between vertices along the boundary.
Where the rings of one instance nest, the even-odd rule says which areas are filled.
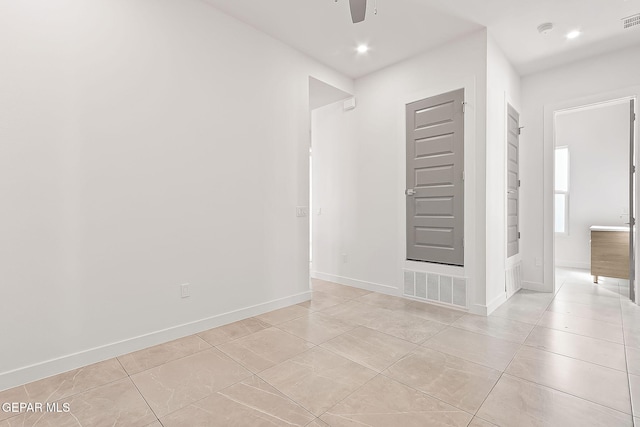
[[[520,115],[507,105],[507,258],[520,252]]]

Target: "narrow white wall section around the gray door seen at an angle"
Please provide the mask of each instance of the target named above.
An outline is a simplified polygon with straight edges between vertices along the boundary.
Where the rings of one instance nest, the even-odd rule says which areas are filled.
[[[521,110],[520,76],[500,47],[487,38],[487,306],[489,312],[506,299],[505,269],[520,261],[507,262],[507,103]],[[524,160],[524,159],[522,159]]]

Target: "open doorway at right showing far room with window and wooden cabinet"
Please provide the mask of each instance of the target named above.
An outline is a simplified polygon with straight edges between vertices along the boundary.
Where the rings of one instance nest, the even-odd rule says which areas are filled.
[[[593,277],[635,298],[633,104],[626,97],[554,111],[556,292]]]

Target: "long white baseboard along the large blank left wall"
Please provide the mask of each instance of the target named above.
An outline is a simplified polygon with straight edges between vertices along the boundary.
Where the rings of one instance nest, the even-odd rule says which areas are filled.
[[[241,308],[194,322],[177,325],[149,334],[140,335],[100,347],[91,348],[78,353],[69,354],[56,359],[25,366],[12,371],[0,373],[0,391],[61,374],[72,369],[81,368],[93,363],[102,362],[113,357],[142,350],[178,338],[197,334],[211,328],[237,322],[238,320],[258,316],[279,308],[288,307],[311,299],[311,291],[268,301],[262,304]]]

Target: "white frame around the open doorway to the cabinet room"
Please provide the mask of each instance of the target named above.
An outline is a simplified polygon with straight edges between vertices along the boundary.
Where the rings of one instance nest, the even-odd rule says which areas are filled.
[[[625,89],[619,89],[615,91],[608,91],[599,93],[596,95],[590,95],[580,98],[575,98],[567,101],[560,101],[551,103],[544,106],[544,151],[543,151],[543,283],[539,284],[538,289],[533,289],[542,292],[557,292],[557,287],[555,283],[555,231],[554,231],[554,212],[555,212],[555,198],[554,194],[554,179],[555,179],[555,115],[556,112],[569,110],[573,108],[585,107],[588,105],[595,105],[606,103],[608,101],[614,101],[616,99],[636,99],[636,110],[638,99],[640,98],[640,86],[632,86]],[[636,111],[637,114],[637,111]],[[634,163],[636,165],[640,164],[638,162],[638,131],[640,130],[639,123],[640,120],[636,120],[635,122],[635,159]],[[640,173],[636,173],[635,178],[635,191],[636,191],[636,203],[634,206],[634,211],[636,212],[636,216],[638,215],[638,195],[640,194],[640,180],[638,176]],[[637,242],[638,240],[638,231],[636,230],[635,235],[633,236],[634,240]],[[635,270],[638,270],[638,245],[636,245],[635,250]],[[636,286],[636,300],[638,296],[637,286],[638,281],[635,282]]]

